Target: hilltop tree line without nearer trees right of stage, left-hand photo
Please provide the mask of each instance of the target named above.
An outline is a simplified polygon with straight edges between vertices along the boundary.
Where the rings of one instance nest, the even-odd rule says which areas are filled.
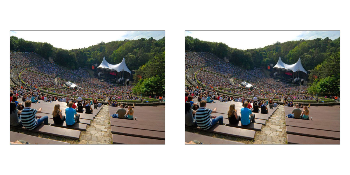
[[[157,53],[165,51],[165,37],[154,40],[153,37],[138,40],[112,41],[98,43],[88,48],[65,50],[55,48],[49,43],[26,41],[15,36],[10,37],[10,50],[37,52],[48,59],[52,57],[56,63],[69,69],[101,63],[103,57],[111,64],[118,64],[125,57],[130,70],[136,70],[153,58]]]

